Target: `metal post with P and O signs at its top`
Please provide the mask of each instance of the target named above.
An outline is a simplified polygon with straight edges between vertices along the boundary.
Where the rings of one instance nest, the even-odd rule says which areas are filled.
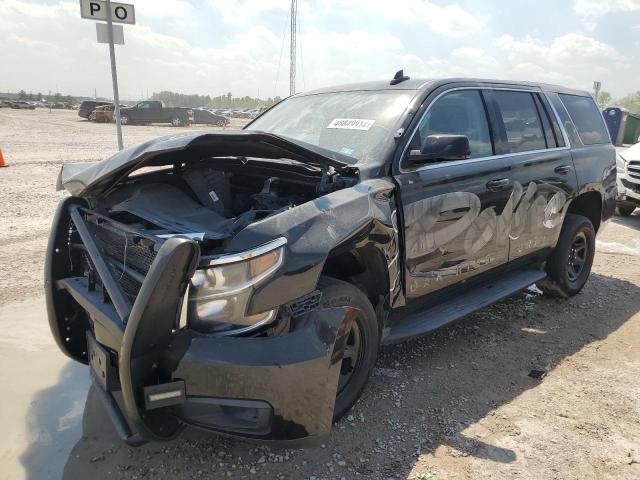
[[[111,3],[111,0],[80,0],[80,16],[89,20],[107,22],[107,43],[109,44],[109,59],[111,61],[111,81],[113,83],[113,114],[116,119],[116,132],[118,135],[118,149],[122,150],[122,123],[120,120],[120,95],[118,93],[118,72],[116,70],[116,51],[114,44],[124,44],[122,27],[116,25],[118,30],[114,32],[114,23],[126,23],[134,25],[136,15],[133,5],[126,3]],[[114,18],[115,16],[115,18]],[[104,25],[104,24],[102,24]],[[101,34],[103,29],[96,28],[98,42],[103,42]],[[116,38],[117,37],[117,38]]]

